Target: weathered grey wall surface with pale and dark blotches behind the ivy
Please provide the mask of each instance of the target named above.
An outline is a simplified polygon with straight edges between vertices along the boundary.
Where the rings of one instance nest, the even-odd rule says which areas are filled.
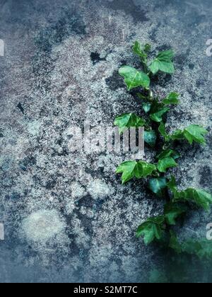
[[[139,65],[138,39],[177,52],[176,74],[159,95],[182,94],[167,127],[199,123],[208,146],[179,148],[182,187],[211,190],[211,1],[0,1],[0,281],[148,281],[167,257],[136,240],[136,227],[162,202],[143,182],[120,185],[123,156],[71,153],[69,128],[111,126],[140,111],[117,75]],[[146,152],[146,159],[153,154]],[[194,211],[183,236],[205,236],[210,214]],[[206,276],[205,276],[206,277]],[[194,279],[191,279],[191,281]],[[196,279],[201,281],[202,279]],[[207,277],[204,280],[208,280]]]

